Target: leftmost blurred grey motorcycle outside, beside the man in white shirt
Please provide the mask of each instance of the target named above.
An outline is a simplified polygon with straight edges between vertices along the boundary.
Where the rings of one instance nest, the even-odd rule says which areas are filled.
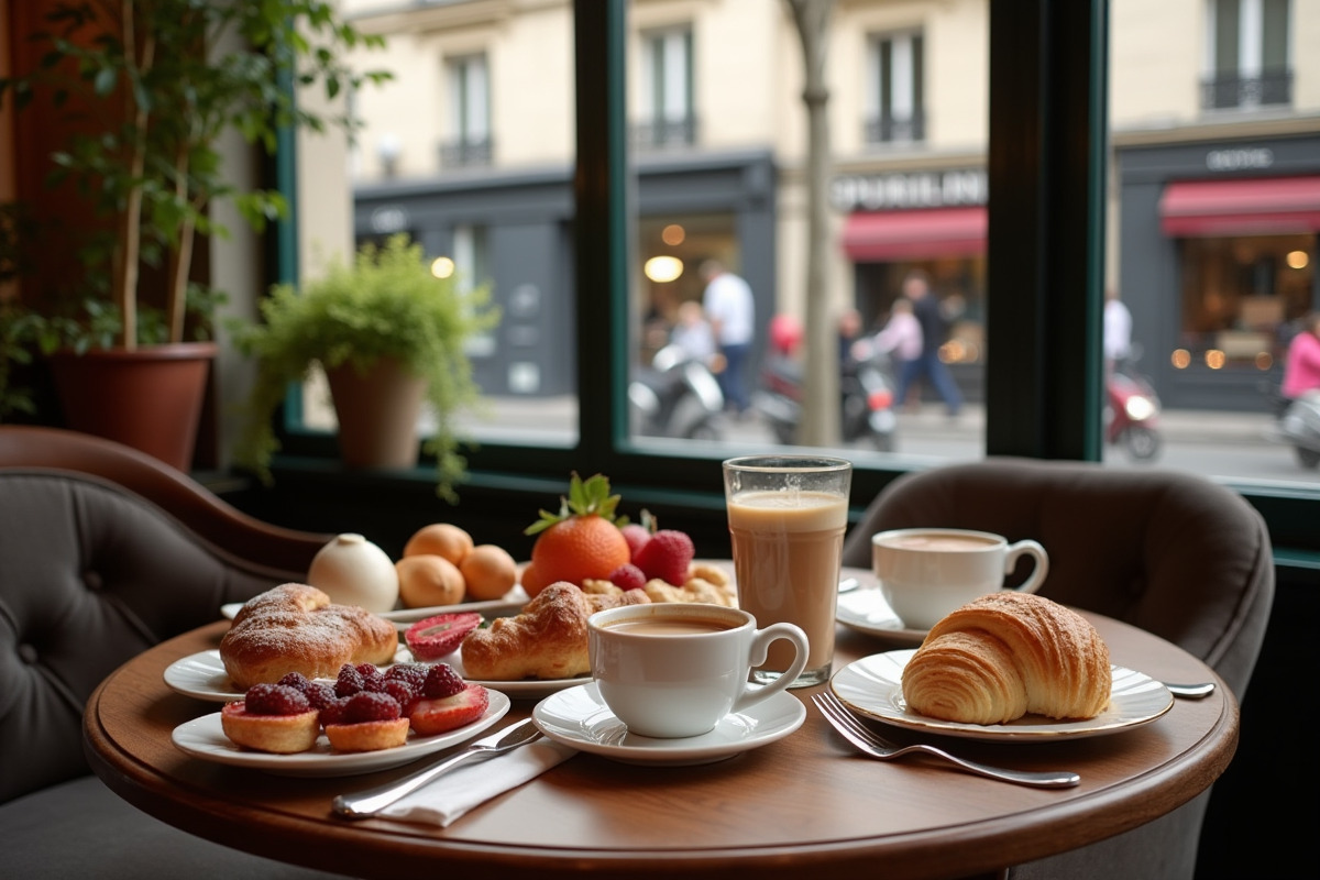
[[[725,396],[710,368],[682,346],[663,347],[628,383],[634,433],[684,439],[723,438]]]

